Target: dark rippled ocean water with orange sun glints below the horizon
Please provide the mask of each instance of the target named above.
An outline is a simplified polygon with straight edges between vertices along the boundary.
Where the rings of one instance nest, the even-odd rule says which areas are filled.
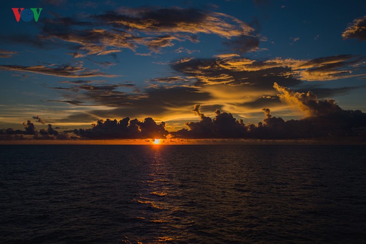
[[[364,243],[365,146],[0,146],[0,242]]]

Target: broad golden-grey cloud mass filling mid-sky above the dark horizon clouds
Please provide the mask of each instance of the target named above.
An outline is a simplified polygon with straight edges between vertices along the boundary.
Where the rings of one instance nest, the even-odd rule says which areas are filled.
[[[95,117],[121,115],[138,118],[152,116],[164,121],[181,119],[183,122],[185,118],[192,117],[188,109],[194,103],[201,104],[206,112],[219,108],[239,117],[258,117],[263,107],[270,107],[272,111],[288,109],[288,105],[277,96],[274,82],[284,87],[299,87],[307,80],[313,81],[314,76],[318,80],[361,77],[364,74],[356,66],[359,62],[359,58],[352,55],[258,61],[233,53],[220,54],[210,59],[172,62],[171,67],[179,74],[175,72],[174,76],[147,80],[148,85],[143,89],[133,84],[69,82],[70,85],[60,87],[64,98],[50,101],[95,106],[95,109],[88,111],[92,116],[82,115],[84,111],[79,112],[84,122],[91,122]],[[339,72],[343,74],[340,76]],[[320,91],[316,83],[308,84],[305,87]],[[332,94],[344,94],[350,89],[322,88],[320,97],[327,93],[327,98],[331,98]],[[63,121],[70,122],[72,118],[65,117]]]

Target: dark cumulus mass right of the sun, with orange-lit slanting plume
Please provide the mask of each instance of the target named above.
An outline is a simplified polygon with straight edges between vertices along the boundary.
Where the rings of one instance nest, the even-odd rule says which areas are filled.
[[[200,105],[193,111],[200,116],[198,122],[188,122],[187,129],[170,134],[174,138],[256,138],[256,139],[295,139],[317,137],[364,136],[366,113],[360,110],[343,110],[334,100],[320,101],[312,92],[299,93],[275,83],[285,102],[297,105],[307,113],[299,120],[285,121],[271,115],[269,108],[263,108],[265,118],[258,125],[245,125],[243,120],[236,120],[231,113],[216,110],[215,117],[205,116]],[[363,128],[363,134],[362,134]],[[361,132],[361,133],[360,133]]]

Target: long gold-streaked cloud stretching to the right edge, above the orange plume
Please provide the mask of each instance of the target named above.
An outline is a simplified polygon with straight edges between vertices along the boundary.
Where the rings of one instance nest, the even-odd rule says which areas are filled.
[[[352,55],[337,55],[310,60],[274,58],[257,61],[235,54],[217,55],[212,59],[190,59],[174,62],[172,68],[197,78],[208,85],[243,84],[270,87],[273,82],[285,86],[302,81],[324,81],[364,77],[356,67],[361,59]]]

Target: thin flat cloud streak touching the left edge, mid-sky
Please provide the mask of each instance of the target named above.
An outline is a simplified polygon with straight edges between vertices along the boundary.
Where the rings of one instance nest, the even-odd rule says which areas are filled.
[[[20,71],[20,72],[30,72],[43,75],[52,75],[60,77],[70,77],[70,78],[80,78],[80,77],[116,77],[116,75],[110,75],[98,70],[89,70],[84,68],[82,64],[77,66],[71,65],[60,65],[60,66],[22,66],[22,65],[0,65],[0,70],[10,70],[10,71]]]

